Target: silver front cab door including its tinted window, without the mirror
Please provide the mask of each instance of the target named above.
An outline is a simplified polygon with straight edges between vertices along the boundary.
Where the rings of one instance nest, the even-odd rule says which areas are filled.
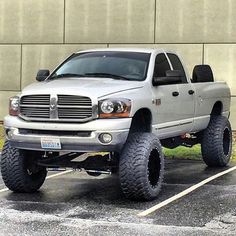
[[[156,56],[153,77],[166,77],[166,71],[171,70],[166,55],[160,53]],[[181,128],[179,127],[179,118],[181,100],[179,99],[178,84],[166,84],[153,86],[153,132],[160,138],[168,137],[170,134],[179,135]]]

